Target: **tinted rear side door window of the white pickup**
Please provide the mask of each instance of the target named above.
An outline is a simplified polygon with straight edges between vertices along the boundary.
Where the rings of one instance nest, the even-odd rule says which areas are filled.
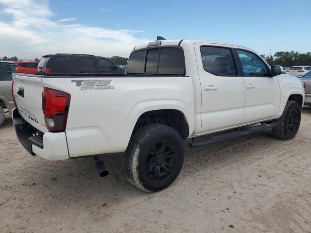
[[[230,49],[202,46],[200,51],[205,71],[216,76],[237,76]]]

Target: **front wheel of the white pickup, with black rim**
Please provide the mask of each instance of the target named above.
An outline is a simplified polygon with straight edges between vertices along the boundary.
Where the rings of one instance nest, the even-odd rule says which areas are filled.
[[[297,124],[294,130],[289,129],[290,117],[293,112],[297,113]],[[301,107],[296,101],[288,100],[284,112],[280,118],[277,120],[277,126],[272,128],[272,133],[276,138],[289,140],[294,138],[296,133],[298,132],[301,120]]]

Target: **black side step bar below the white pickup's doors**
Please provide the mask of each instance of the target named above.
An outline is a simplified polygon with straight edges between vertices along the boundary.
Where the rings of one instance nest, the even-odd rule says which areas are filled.
[[[260,132],[263,130],[271,129],[271,128],[276,127],[276,126],[277,126],[277,122],[271,122],[269,124],[263,123],[261,125],[249,127],[249,128],[242,129],[242,130],[240,130],[240,128],[237,128],[237,131],[235,131],[235,132],[225,133],[225,134],[213,136],[213,137],[203,139],[203,140],[193,141],[193,139],[192,139],[192,142],[189,143],[189,146],[192,148],[202,147],[202,146],[210,145],[210,144],[217,143],[220,141],[224,141],[224,140],[229,139],[229,138],[247,135],[250,133],[257,133],[257,132]]]

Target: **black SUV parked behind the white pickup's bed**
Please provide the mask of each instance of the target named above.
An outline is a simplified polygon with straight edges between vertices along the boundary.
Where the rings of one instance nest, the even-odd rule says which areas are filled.
[[[116,66],[105,57],[87,54],[57,53],[42,56],[38,73],[114,73],[123,74],[125,69]]]

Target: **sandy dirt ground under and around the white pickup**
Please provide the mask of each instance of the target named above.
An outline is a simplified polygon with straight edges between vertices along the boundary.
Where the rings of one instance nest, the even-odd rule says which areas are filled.
[[[144,193],[99,177],[92,157],[31,156],[10,117],[0,128],[0,233],[311,232],[311,108],[290,141],[270,131],[190,149],[177,180]],[[232,225],[231,227],[229,227]]]

